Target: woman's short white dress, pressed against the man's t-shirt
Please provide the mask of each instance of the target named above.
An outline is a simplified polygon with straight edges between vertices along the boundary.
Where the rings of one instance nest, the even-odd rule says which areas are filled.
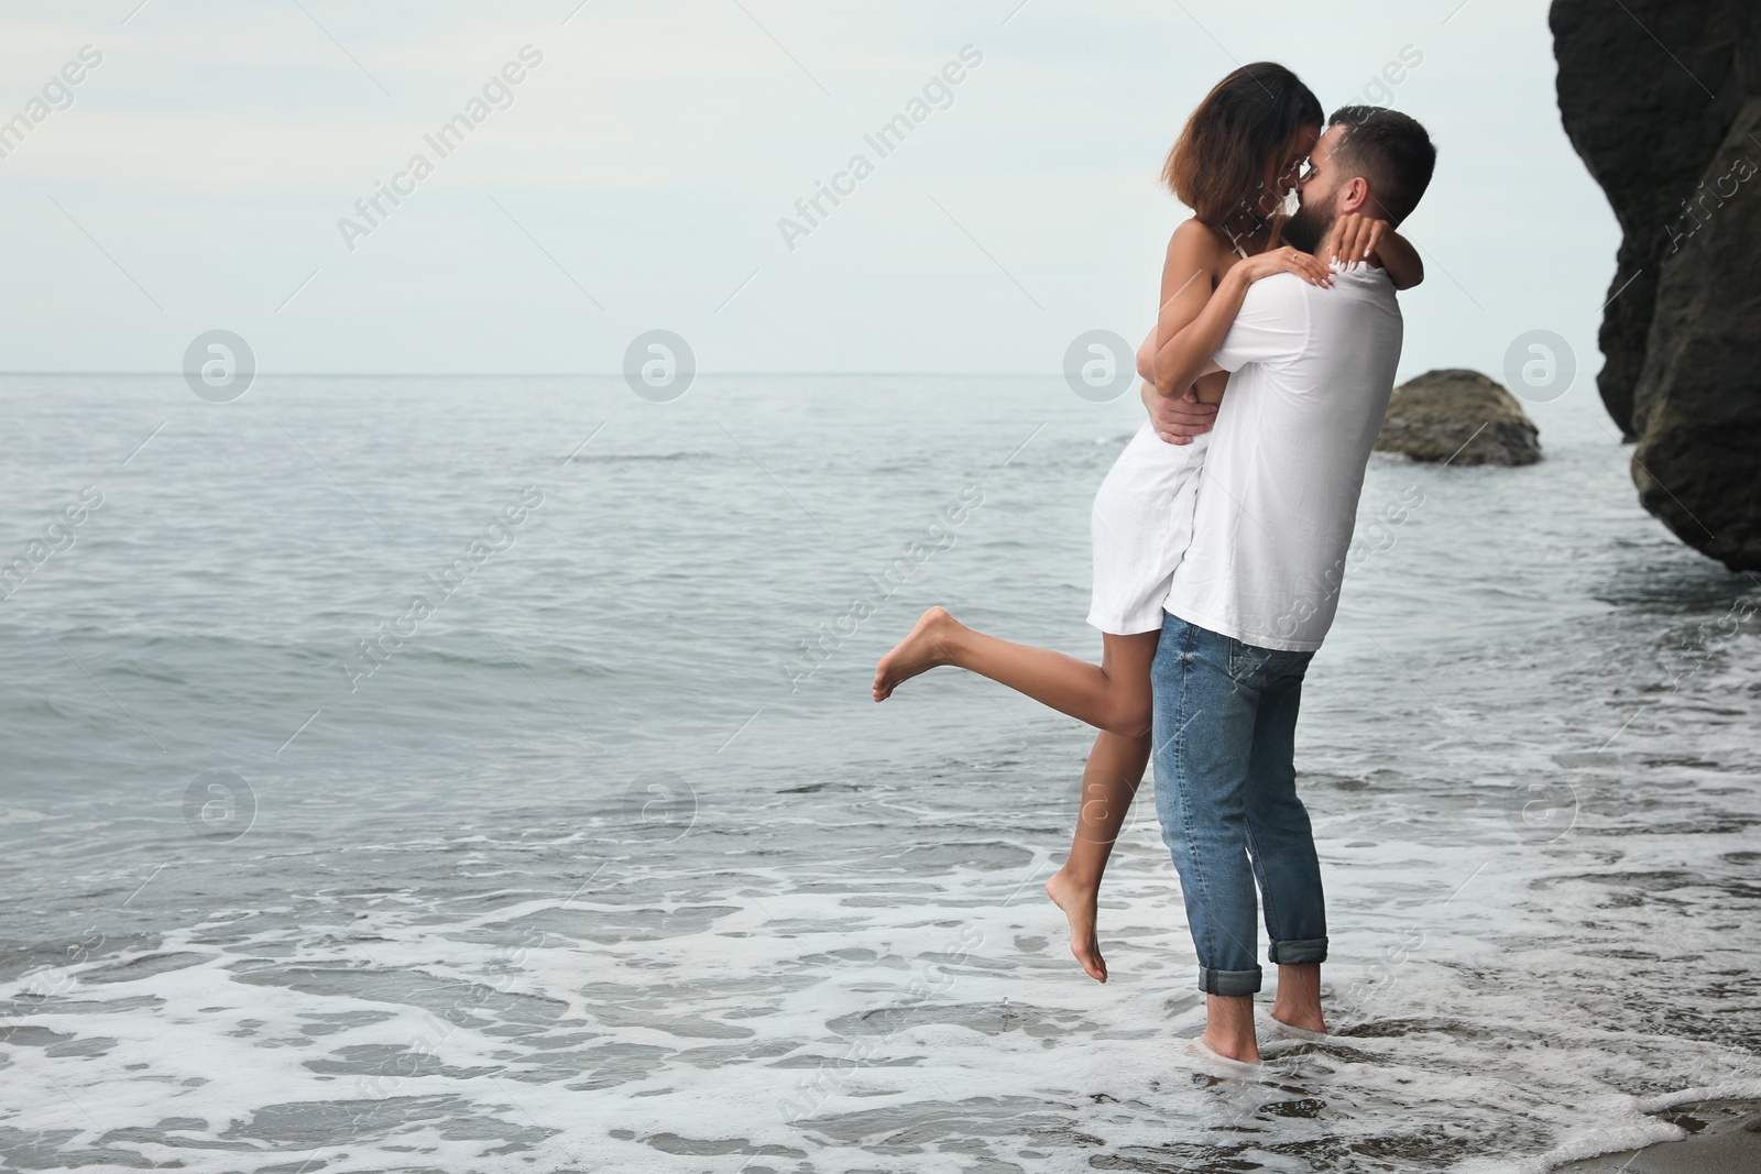
[[[1210,433],[1168,444],[1145,421],[1095,493],[1088,530],[1095,579],[1088,623],[1115,635],[1159,632],[1175,569],[1192,542],[1192,512]]]

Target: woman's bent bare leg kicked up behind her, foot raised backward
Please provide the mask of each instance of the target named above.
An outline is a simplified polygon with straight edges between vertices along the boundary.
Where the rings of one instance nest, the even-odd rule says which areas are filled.
[[[1159,637],[1160,632],[1108,634],[1102,637],[1101,664],[1094,665],[1050,648],[1011,644],[974,632],[940,607],[932,607],[910,635],[880,658],[873,697],[886,701],[919,672],[958,665],[1095,729],[1141,737],[1150,732],[1150,662]]]

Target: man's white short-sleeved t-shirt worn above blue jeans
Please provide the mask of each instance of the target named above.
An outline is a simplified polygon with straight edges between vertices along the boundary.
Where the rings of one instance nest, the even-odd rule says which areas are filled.
[[[1377,268],[1335,268],[1330,289],[1294,273],[1249,287],[1217,350],[1229,389],[1166,611],[1243,644],[1321,648],[1400,340]]]

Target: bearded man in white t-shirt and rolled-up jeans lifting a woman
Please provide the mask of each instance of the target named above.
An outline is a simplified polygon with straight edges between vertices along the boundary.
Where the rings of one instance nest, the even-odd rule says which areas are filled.
[[[1405,114],[1337,111],[1300,181],[1301,209],[1286,239],[1314,252],[1345,213],[1400,224],[1435,157]],[[1289,273],[1256,282],[1215,356],[1231,377],[1152,681],[1155,810],[1208,996],[1197,1049],[1224,1060],[1259,1060],[1256,882],[1278,966],[1271,1014],[1300,1031],[1326,1030],[1326,908],[1308,811],[1296,797],[1296,711],[1338,604],[1400,341],[1388,275],[1352,266],[1331,287]],[[1164,438],[1206,429],[1197,405],[1153,391],[1146,400]]]

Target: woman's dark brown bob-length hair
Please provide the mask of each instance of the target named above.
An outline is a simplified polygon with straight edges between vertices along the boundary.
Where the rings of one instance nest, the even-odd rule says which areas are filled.
[[[1321,127],[1321,100],[1291,70],[1275,62],[1243,65],[1187,118],[1162,183],[1201,222],[1220,227],[1250,209],[1266,160],[1287,151],[1303,127]]]

